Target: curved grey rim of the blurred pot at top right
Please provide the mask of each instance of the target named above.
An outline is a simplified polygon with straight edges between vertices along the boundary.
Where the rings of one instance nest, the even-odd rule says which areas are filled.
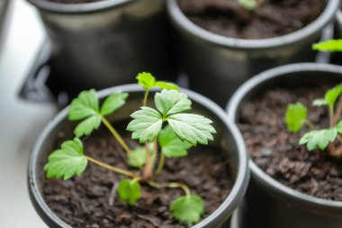
[[[259,50],[271,49],[302,41],[315,32],[320,31],[326,24],[333,20],[333,17],[338,10],[338,5],[339,0],[328,0],[324,11],[316,20],[295,32],[273,38],[250,40],[231,38],[202,29],[183,14],[177,4],[177,0],[167,0],[167,11],[172,21],[179,29],[202,41],[231,49]]]

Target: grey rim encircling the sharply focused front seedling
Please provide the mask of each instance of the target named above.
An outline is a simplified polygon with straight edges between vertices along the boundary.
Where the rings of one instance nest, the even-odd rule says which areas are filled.
[[[111,87],[107,89],[103,89],[98,92],[99,97],[108,96],[116,91],[125,91],[128,93],[143,91],[142,87],[136,84],[129,84],[118,87]],[[244,194],[247,190],[247,182],[249,180],[249,169],[248,169],[248,159],[247,152],[245,148],[245,144],[242,138],[242,135],[238,131],[238,127],[235,123],[232,123],[227,118],[227,114],[216,104],[214,104],[210,99],[201,96],[193,91],[181,88],[181,91],[184,92],[189,98],[196,103],[206,106],[208,110],[211,110],[212,114],[216,114],[217,117],[220,118],[222,123],[226,123],[226,127],[231,133],[231,136],[236,141],[237,145],[237,158],[238,158],[238,169],[237,169],[237,177],[235,179],[235,183],[231,188],[229,195],[223,201],[223,203],[208,217],[202,220],[201,223],[197,223],[193,226],[193,228],[200,227],[211,227],[211,225],[217,225],[221,221],[225,221],[228,219],[228,214],[232,214],[233,210],[238,207],[239,202],[242,200]],[[60,111],[54,119],[44,128],[44,130],[40,133],[37,141],[34,143],[33,148],[31,150],[31,156],[29,160],[28,166],[28,187],[29,193],[31,196],[31,202],[33,203],[35,209],[40,214],[40,217],[46,223],[57,223],[60,227],[70,227],[67,223],[63,222],[56,214],[49,209],[49,206],[43,200],[43,197],[40,194],[40,189],[38,188],[38,177],[35,173],[35,170],[38,166],[38,156],[41,146],[44,141],[49,137],[49,132],[51,132],[55,127],[63,120],[67,118],[67,107]],[[41,214],[47,214],[49,218],[44,218]]]

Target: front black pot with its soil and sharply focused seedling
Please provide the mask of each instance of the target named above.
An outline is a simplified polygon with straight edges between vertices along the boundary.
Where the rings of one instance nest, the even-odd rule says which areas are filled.
[[[35,143],[29,191],[50,227],[218,227],[238,206],[248,170],[234,124],[203,96],[178,92],[148,73],[138,79],[144,89],[127,85],[100,92],[101,108],[94,90],[82,92]],[[101,123],[112,134],[94,132]],[[213,132],[209,147],[197,146],[185,156],[193,145],[211,141]]]

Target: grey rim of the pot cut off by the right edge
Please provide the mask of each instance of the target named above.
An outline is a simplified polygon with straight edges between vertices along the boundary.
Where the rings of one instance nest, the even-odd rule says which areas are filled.
[[[332,64],[325,63],[294,63],[284,65],[277,68],[266,70],[257,76],[248,79],[242,86],[238,87],[238,90],[230,98],[229,104],[226,106],[226,112],[228,113],[229,119],[235,122],[235,118],[238,111],[238,105],[241,103],[243,98],[248,92],[257,87],[257,85],[263,84],[269,79],[286,77],[286,74],[296,73],[302,71],[321,71],[340,74],[342,78],[342,67]],[[283,196],[286,200],[292,200],[293,202],[300,202],[303,205],[309,205],[312,208],[330,208],[332,210],[342,209],[341,201],[333,201],[328,199],[322,199],[315,196],[303,194],[299,191],[294,190],[291,187],[287,187],[274,178],[268,176],[262,169],[260,169],[253,160],[249,160],[249,169],[251,176],[257,179],[258,183],[261,183],[264,187],[275,191],[277,196]]]

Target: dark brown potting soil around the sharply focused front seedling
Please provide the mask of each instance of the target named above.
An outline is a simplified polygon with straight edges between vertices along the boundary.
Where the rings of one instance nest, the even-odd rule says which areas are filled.
[[[130,135],[125,139],[130,141]],[[136,143],[130,141],[129,145],[134,147]],[[97,131],[85,140],[85,154],[130,169],[122,162],[124,150],[106,130]],[[141,198],[137,205],[130,206],[122,203],[115,192],[118,182],[125,177],[97,165],[90,163],[81,177],[67,181],[43,176],[41,173],[45,201],[73,227],[186,227],[177,223],[168,211],[177,196],[184,196],[182,189],[157,190],[142,184]],[[202,218],[219,207],[233,185],[228,162],[218,150],[208,146],[197,146],[187,157],[166,160],[165,169],[156,181],[181,182],[190,187],[192,194],[202,196],[205,207]]]

